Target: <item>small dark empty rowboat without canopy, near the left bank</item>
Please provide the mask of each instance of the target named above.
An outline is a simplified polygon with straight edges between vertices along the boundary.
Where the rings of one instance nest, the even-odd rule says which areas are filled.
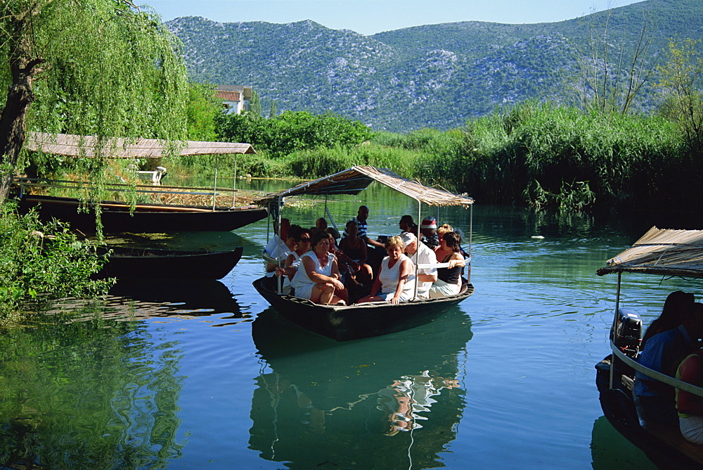
[[[96,279],[222,279],[237,265],[244,248],[231,251],[181,251],[152,248],[100,247],[108,262]]]

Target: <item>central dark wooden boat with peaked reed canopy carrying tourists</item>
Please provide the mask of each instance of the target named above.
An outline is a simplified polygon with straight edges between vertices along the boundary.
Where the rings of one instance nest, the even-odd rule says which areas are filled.
[[[373,182],[385,184],[395,191],[405,194],[418,202],[418,220],[421,220],[422,205],[436,207],[461,206],[471,209],[473,199],[460,196],[443,189],[430,188],[417,181],[399,177],[387,169],[370,166],[355,166],[342,172],[299,184],[285,191],[272,193],[255,201],[280,222],[280,208],[290,196],[331,194],[359,194]],[[332,218],[326,209],[328,217]],[[333,223],[334,225],[334,223]],[[419,229],[418,229],[419,240]],[[471,253],[471,231],[468,239],[469,255]],[[411,257],[412,258],[412,257]],[[273,260],[276,262],[276,260]],[[416,269],[426,267],[415,262]],[[467,260],[469,265],[470,259]],[[434,267],[446,267],[437,264]],[[288,296],[280,293],[280,285],[274,278],[262,277],[254,281],[254,288],[278,310],[280,315],[290,322],[314,333],[328,336],[337,341],[347,341],[371,336],[403,331],[421,324],[431,322],[447,310],[470,296],[474,287],[465,282],[460,293],[455,296],[429,300],[410,300],[393,305],[388,302],[363,303],[352,305],[319,305],[310,300]],[[278,283],[280,284],[280,283]],[[350,302],[352,299],[350,299]]]

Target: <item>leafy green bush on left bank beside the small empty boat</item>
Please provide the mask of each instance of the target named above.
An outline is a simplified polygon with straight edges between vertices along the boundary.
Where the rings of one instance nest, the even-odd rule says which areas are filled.
[[[0,323],[27,307],[66,296],[96,296],[111,281],[93,281],[104,259],[58,222],[41,224],[30,212],[0,205]]]

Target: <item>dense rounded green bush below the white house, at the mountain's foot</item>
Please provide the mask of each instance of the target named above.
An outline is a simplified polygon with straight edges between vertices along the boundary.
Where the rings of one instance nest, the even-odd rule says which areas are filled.
[[[221,139],[247,142],[274,157],[312,148],[352,148],[370,138],[371,132],[358,121],[332,114],[313,115],[304,111],[286,111],[273,118],[244,113],[221,115],[218,120]]]

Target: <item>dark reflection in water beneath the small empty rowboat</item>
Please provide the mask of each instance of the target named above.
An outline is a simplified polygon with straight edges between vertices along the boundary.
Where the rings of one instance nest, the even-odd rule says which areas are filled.
[[[117,281],[105,299],[105,311],[131,317],[192,318],[218,314],[229,314],[225,318],[230,319],[250,317],[227,286],[212,280]]]

